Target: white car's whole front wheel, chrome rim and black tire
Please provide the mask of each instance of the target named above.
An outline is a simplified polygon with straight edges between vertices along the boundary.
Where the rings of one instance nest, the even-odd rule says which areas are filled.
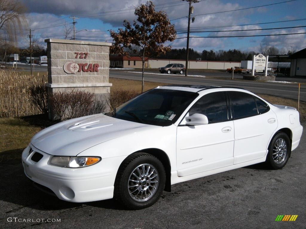
[[[147,153],[135,153],[121,164],[114,194],[127,208],[143,209],[159,199],[165,182],[165,168],[158,158]]]

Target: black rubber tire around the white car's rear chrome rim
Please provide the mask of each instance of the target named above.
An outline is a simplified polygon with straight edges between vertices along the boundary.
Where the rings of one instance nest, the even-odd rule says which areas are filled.
[[[278,140],[284,140],[285,144],[286,144],[286,155],[284,157],[281,157],[281,158],[284,158],[284,159],[281,160],[282,161],[281,163],[277,163],[273,158],[273,153],[274,153],[274,151],[277,150],[276,142]],[[276,147],[276,148],[274,148],[274,147]],[[273,151],[273,149],[274,149],[274,151]],[[275,152],[275,153],[277,153],[277,152]],[[277,155],[275,155],[275,153],[274,153],[274,156],[277,157]],[[276,133],[276,135],[273,137],[273,139],[270,142],[270,145],[269,145],[269,148],[268,148],[268,155],[267,155],[266,163],[271,169],[282,169],[287,164],[290,153],[291,153],[291,142],[290,142],[290,139],[289,139],[288,135],[283,133],[283,132],[278,132],[278,133]]]

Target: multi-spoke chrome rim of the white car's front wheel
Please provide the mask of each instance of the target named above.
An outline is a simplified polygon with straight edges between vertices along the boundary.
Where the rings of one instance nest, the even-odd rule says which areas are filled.
[[[157,190],[159,175],[153,165],[138,165],[129,176],[128,191],[139,202],[150,199]]]

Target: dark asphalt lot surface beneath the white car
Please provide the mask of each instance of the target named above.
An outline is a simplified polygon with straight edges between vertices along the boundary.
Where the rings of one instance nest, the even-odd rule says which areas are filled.
[[[36,190],[21,161],[2,161],[0,228],[305,228],[305,147],[304,133],[281,170],[257,164],[175,184],[155,205],[138,211],[116,200],[61,201]],[[276,222],[278,215],[298,217]]]

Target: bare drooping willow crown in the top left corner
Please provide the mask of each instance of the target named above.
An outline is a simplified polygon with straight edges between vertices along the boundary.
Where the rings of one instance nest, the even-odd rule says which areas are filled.
[[[27,24],[25,6],[17,0],[0,1],[0,30],[4,30],[9,42],[17,43],[17,32]]]

